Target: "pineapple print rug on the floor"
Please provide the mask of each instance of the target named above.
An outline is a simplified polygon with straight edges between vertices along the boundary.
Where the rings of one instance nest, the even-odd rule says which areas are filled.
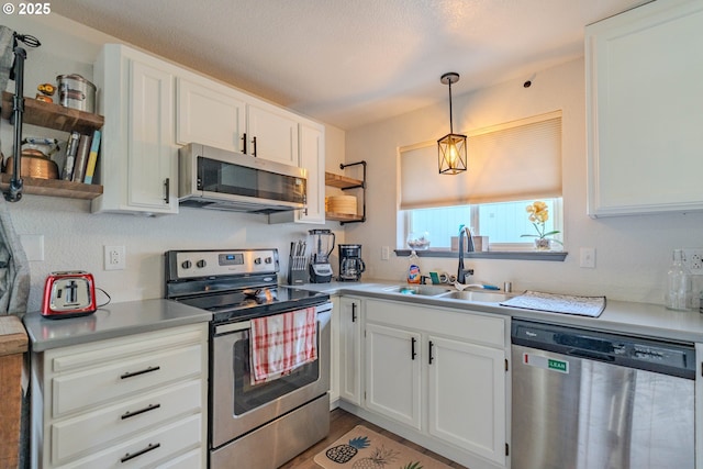
[[[450,469],[429,456],[357,425],[317,454],[325,469]]]

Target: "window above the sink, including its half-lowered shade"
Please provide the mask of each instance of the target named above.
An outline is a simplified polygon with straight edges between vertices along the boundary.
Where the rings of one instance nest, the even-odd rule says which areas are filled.
[[[521,235],[537,233],[525,211],[535,200],[548,205],[546,231],[562,232],[561,113],[468,136],[468,170],[456,176],[438,175],[434,142],[399,148],[399,238],[426,231],[431,249],[449,249],[465,224],[473,235],[488,236],[492,250],[531,249],[533,238]]]

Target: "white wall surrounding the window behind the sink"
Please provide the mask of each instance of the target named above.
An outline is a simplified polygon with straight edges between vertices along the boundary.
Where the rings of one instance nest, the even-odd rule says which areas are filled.
[[[444,70],[437,70],[437,75]],[[563,263],[476,259],[473,280],[515,291],[605,294],[612,300],[662,303],[666,272],[676,247],[703,247],[703,214],[662,214],[589,219],[585,214],[585,91],[583,59],[537,72],[524,80],[460,94],[453,87],[455,131],[469,131],[549,111],[562,111],[565,205]],[[525,78],[527,79],[527,77]],[[437,80],[437,87],[446,90]],[[381,260],[381,247],[397,247],[397,148],[436,139],[448,132],[448,102],[348,131],[348,160],[368,160],[368,222],[346,230],[347,242],[364,245],[368,277],[401,280],[405,258]],[[469,141],[469,170],[470,141]],[[447,176],[451,177],[451,176]],[[432,231],[432,227],[428,227]],[[579,267],[579,248],[596,249],[595,269]],[[423,258],[423,270],[456,272],[456,259]],[[696,278],[696,283],[701,279]]]

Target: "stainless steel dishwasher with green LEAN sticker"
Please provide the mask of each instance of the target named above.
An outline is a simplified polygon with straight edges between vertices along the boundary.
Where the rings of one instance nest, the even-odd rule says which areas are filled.
[[[693,469],[695,351],[512,322],[512,469]]]

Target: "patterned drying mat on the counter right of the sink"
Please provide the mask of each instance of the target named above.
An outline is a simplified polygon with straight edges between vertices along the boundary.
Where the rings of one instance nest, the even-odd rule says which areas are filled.
[[[605,297],[577,297],[527,290],[518,297],[501,302],[501,305],[598,317],[605,310]]]

